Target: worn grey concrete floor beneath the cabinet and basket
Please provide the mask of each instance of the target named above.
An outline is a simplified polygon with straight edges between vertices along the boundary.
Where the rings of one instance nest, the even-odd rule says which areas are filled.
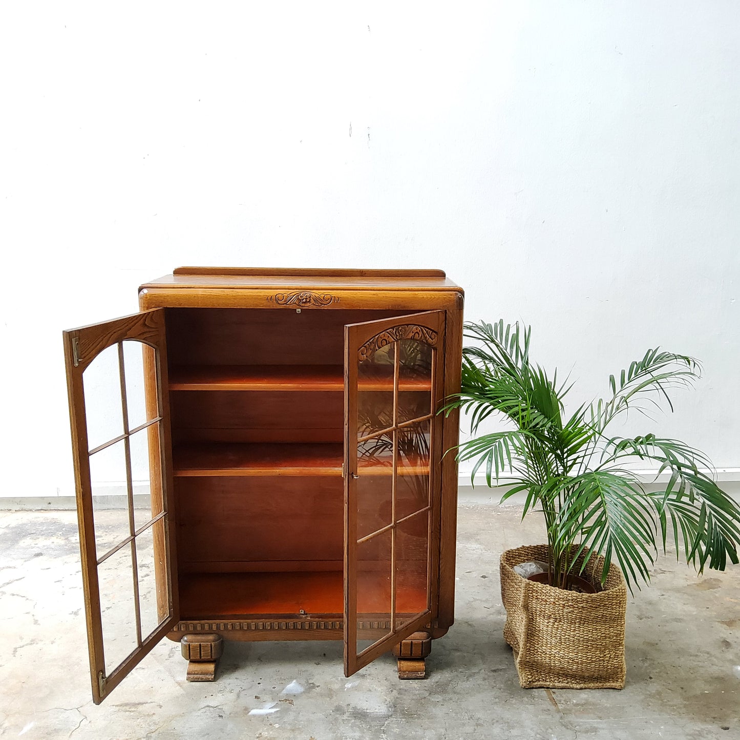
[[[400,682],[390,656],[346,679],[340,642],[229,642],[216,682],[187,683],[179,645],[164,640],[95,707],[75,513],[0,512],[0,736],[740,739],[740,568],[698,578],[659,561],[628,603],[624,690],[519,687],[498,557],[543,539],[519,515],[461,505],[457,622],[425,681]]]

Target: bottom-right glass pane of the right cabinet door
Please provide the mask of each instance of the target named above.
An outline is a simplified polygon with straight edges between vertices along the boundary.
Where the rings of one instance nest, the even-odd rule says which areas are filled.
[[[423,511],[396,528],[396,628],[428,606],[429,513]]]

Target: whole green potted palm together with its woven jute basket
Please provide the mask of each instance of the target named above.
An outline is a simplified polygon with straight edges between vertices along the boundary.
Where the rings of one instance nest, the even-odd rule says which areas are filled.
[[[502,554],[501,590],[507,610],[504,636],[514,648],[522,687],[616,687],[625,683],[627,589],[650,579],[659,548],[670,536],[676,554],[701,573],[738,562],[740,508],[713,480],[707,457],[656,434],[610,436],[628,411],[670,403],[670,392],[699,377],[692,357],[650,349],[618,376],[605,399],[565,414],[568,383],[531,362],[531,329],[502,321],[466,323],[462,388],[445,408],[471,420],[459,460],[474,460],[488,485],[506,479],[502,496],[524,492],[524,515],[545,519],[546,545]],[[508,428],[477,435],[489,417]],[[661,490],[648,490],[630,469],[639,461],[667,474]],[[657,476],[656,476],[657,480]],[[650,486],[654,488],[655,486]],[[546,563],[544,582],[514,567]],[[594,593],[571,591],[574,576]]]

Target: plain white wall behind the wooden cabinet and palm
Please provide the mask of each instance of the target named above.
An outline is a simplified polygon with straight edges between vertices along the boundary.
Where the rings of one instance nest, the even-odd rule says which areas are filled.
[[[732,0],[3,4],[0,493],[73,491],[61,329],[178,264],[439,267],[584,399],[648,346],[694,354],[656,428],[740,469],[739,24]]]

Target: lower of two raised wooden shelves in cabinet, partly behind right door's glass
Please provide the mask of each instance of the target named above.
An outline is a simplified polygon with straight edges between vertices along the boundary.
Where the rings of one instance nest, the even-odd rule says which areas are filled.
[[[175,447],[172,462],[176,477],[339,476],[343,445],[336,443],[186,444]],[[363,460],[361,475],[391,475],[391,465]],[[428,465],[400,466],[400,475],[425,475]]]

